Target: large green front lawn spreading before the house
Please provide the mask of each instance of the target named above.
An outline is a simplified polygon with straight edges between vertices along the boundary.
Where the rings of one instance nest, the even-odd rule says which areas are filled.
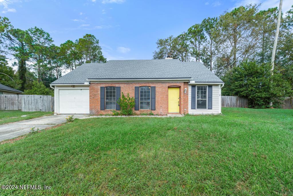
[[[3,195],[292,195],[293,110],[75,119],[0,145]],[[2,195],[1,194],[1,195]]]

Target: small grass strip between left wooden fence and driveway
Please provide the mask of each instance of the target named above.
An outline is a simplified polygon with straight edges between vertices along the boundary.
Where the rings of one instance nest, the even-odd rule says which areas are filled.
[[[42,116],[52,115],[52,112],[22,112],[21,110],[0,110],[0,125],[6,123],[13,123],[21,120],[29,120]],[[27,115],[21,117],[22,115]]]

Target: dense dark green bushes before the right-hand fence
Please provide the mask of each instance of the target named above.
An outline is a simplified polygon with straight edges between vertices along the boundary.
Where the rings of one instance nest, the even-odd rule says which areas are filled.
[[[244,62],[234,67],[223,78],[222,95],[247,97],[250,108],[268,108],[271,101],[274,107],[279,107],[282,97],[292,95],[292,89],[280,73],[271,75],[270,69],[270,63],[255,62]]]

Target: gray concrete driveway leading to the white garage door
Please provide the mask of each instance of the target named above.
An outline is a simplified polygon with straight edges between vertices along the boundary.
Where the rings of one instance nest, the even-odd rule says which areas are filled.
[[[20,135],[29,133],[33,126],[40,128],[40,130],[65,123],[69,114],[60,114],[45,116],[41,118],[34,118],[30,120],[23,120],[15,123],[0,125],[0,141],[16,138]],[[85,114],[74,114],[74,118],[86,118]]]

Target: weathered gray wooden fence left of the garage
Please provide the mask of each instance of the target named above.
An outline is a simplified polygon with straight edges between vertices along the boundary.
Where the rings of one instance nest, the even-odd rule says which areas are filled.
[[[54,97],[50,95],[0,95],[0,110],[53,112]]]

